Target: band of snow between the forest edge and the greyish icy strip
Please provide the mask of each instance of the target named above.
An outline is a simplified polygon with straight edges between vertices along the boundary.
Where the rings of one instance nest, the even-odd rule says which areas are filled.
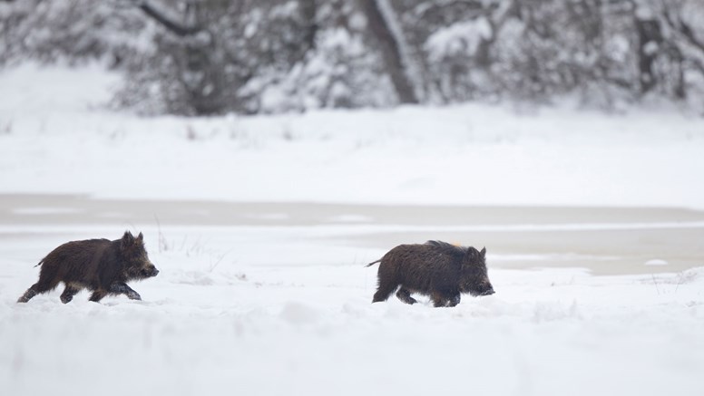
[[[704,208],[704,121],[671,109],[141,119],[94,109],[115,83],[97,67],[0,73],[0,193]]]

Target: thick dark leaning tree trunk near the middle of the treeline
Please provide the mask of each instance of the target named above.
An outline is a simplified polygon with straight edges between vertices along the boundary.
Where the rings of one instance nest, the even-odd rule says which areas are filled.
[[[406,65],[402,61],[399,43],[396,42],[394,34],[391,33],[391,29],[376,4],[376,0],[359,0],[359,5],[361,5],[362,12],[367,16],[369,30],[376,38],[382,60],[386,66],[386,72],[388,72],[396,89],[398,101],[401,103],[418,103],[413,83],[411,83]]]

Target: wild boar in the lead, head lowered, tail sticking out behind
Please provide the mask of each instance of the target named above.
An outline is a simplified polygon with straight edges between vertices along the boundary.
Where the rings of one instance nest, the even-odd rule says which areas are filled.
[[[455,306],[462,293],[493,295],[485,256],[486,248],[480,252],[440,241],[396,246],[367,265],[381,263],[372,303],[386,301],[396,289],[396,297],[406,304],[415,304],[411,294],[417,293],[429,295],[435,306]]]

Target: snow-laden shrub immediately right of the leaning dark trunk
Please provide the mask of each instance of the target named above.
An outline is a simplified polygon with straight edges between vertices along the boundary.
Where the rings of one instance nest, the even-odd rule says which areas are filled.
[[[513,0],[404,0],[401,6],[430,101],[466,101],[498,91],[494,44],[516,16]]]

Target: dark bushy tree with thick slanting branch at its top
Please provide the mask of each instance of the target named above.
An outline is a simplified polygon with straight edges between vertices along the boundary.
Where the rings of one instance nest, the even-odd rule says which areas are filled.
[[[153,50],[129,63],[127,85],[120,97],[135,106],[145,98],[157,98],[155,103],[148,101],[163,106],[154,112],[208,115],[227,111],[231,100],[227,87],[233,82],[225,73],[224,54],[211,30],[219,22],[219,5],[227,5],[186,1],[169,6],[174,5],[176,10],[146,1],[137,4],[162,29],[154,35]]]

